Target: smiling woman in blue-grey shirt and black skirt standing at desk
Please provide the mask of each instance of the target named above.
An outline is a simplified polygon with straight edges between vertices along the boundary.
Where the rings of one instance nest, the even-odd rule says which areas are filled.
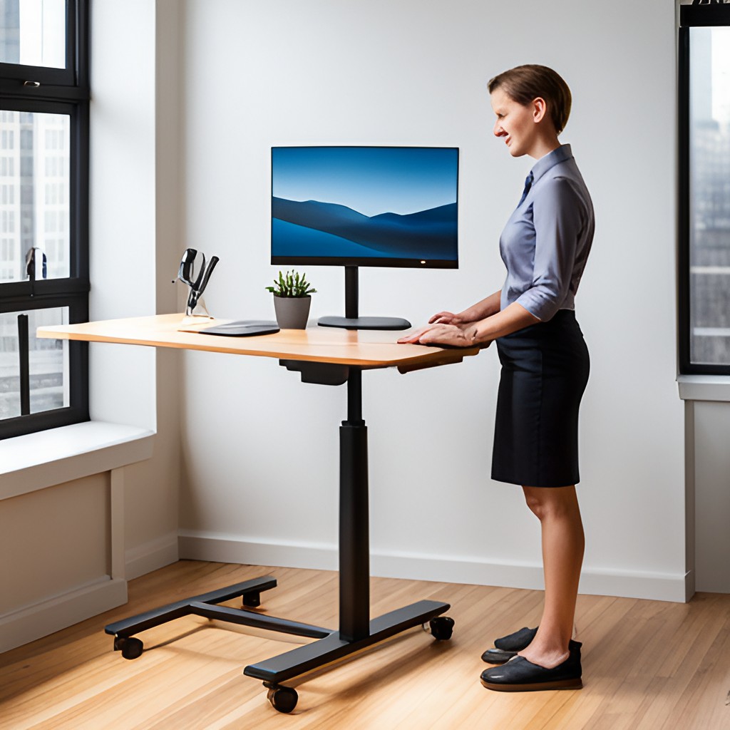
[[[507,280],[399,342],[467,347],[496,340],[502,376],[492,478],[521,485],[540,520],[545,606],[537,629],[497,639],[497,649],[485,651],[485,661],[506,663],[481,679],[498,691],[580,688],[580,643],[571,639],[584,549],[575,484],[589,361],[574,301],[593,240],[593,205],[570,146],[558,142],[570,112],[566,82],[545,66],[526,65],[494,77],[488,88],[494,135],[512,157],[537,160],[499,241]]]

